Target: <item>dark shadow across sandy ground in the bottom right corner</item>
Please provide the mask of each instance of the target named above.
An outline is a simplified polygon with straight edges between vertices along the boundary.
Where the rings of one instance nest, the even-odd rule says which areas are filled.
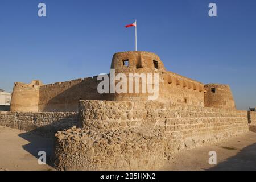
[[[235,171],[235,170],[256,170],[256,143],[243,148],[237,155],[226,159],[215,167],[205,170],[210,171]]]

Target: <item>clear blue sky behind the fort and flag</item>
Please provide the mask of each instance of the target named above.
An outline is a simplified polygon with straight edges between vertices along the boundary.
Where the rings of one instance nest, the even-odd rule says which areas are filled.
[[[38,17],[38,3],[47,17]],[[217,17],[208,16],[210,2]],[[256,105],[256,1],[0,1],[0,88],[107,73],[115,52],[155,52],[165,67],[229,84],[238,109]]]

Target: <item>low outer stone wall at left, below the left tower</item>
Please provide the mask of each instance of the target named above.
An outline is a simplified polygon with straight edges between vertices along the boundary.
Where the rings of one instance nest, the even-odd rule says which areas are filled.
[[[0,125],[53,137],[57,131],[77,125],[77,113],[0,111]]]

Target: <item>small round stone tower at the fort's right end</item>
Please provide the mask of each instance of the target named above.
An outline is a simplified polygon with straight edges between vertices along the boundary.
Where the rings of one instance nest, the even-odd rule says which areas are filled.
[[[215,107],[222,109],[236,109],[232,92],[229,85],[207,84],[204,97],[205,107]]]

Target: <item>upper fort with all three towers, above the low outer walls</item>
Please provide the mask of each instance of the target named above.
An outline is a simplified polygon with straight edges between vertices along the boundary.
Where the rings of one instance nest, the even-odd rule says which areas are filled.
[[[112,57],[110,69],[114,77],[119,73],[151,73],[159,75],[159,94],[156,101],[172,102],[200,107],[235,109],[232,93],[227,85],[208,84],[192,80],[177,73],[167,71],[160,57],[152,52],[118,52]],[[111,76],[108,74],[107,76]],[[142,78],[139,78],[142,79]],[[32,80],[30,84],[15,82],[12,111],[77,111],[79,100],[105,101],[147,101],[148,93],[98,93],[101,80],[97,76],[79,78],[71,81],[42,84]],[[115,84],[118,84],[115,80]],[[139,90],[142,84],[139,83]],[[154,83],[151,83],[151,87]],[[212,92],[212,88],[217,92]]]

